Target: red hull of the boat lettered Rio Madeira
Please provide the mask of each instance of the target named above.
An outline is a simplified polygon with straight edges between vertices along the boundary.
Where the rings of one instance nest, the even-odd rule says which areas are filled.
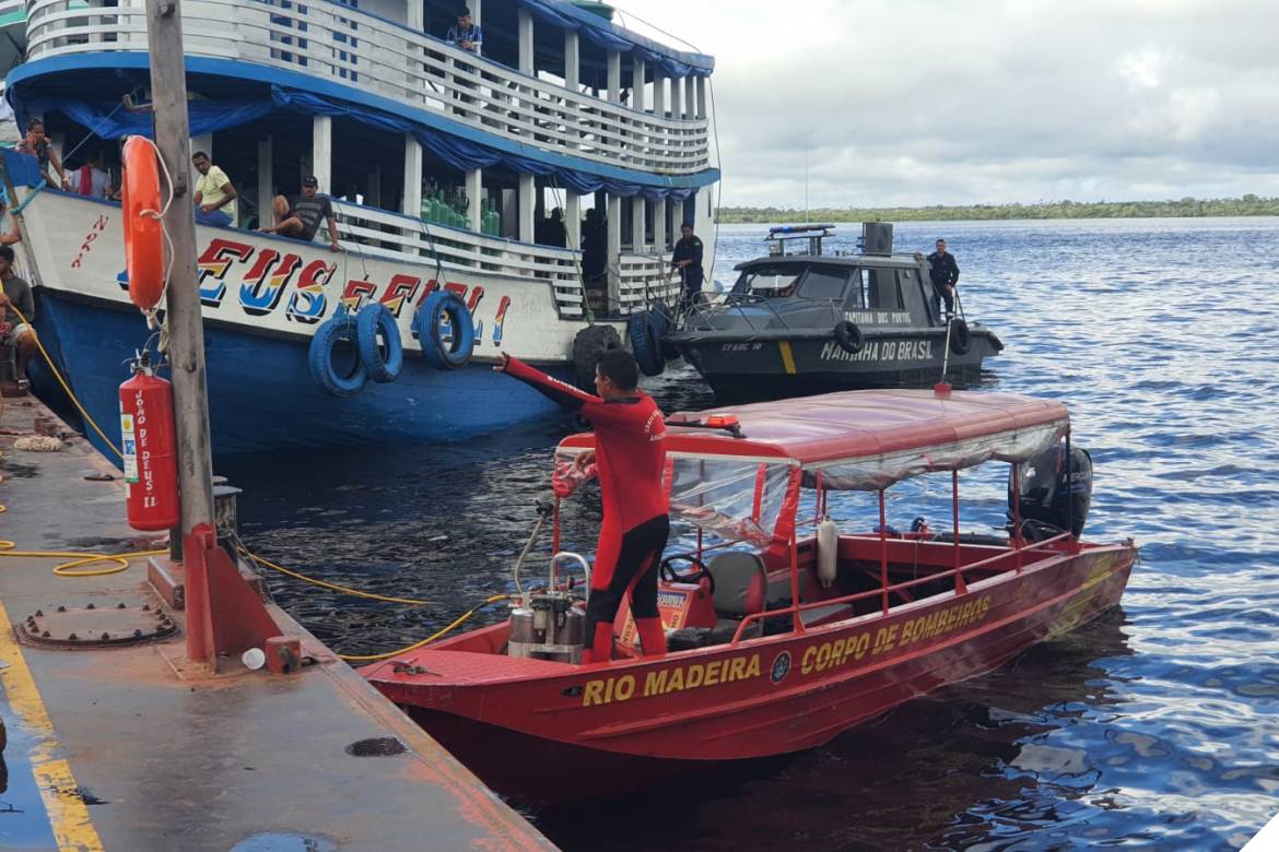
[[[495,788],[533,802],[608,796],[812,749],[989,672],[1114,607],[1134,558],[1127,544],[1063,551],[886,616],[660,659],[515,659],[477,653],[471,634],[363,673]]]

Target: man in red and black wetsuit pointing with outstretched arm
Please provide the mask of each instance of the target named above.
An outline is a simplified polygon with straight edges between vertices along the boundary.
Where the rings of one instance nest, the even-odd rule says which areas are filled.
[[[636,359],[620,349],[604,354],[595,368],[600,396],[554,379],[506,353],[494,369],[527,382],[595,427],[595,451],[578,455],[574,462],[583,468],[596,464],[604,502],[586,604],[590,648],[582,662],[613,658],[613,620],[628,593],[643,653],[665,654],[666,636],[657,616],[657,563],[670,534],[670,507],[661,482],[666,424],[652,397],[637,387]]]

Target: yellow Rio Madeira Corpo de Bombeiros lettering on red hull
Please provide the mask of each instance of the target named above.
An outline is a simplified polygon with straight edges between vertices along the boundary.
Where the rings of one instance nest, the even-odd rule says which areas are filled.
[[[990,612],[990,595],[946,607],[926,616],[888,625],[877,630],[863,630],[848,636],[813,643],[798,653],[799,674],[825,672],[849,662],[876,657],[914,643],[935,639],[982,621]],[[788,651],[783,651],[788,653]],[[743,654],[709,663],[687,663],[646,672],[642,674],[616,674],[587,681],[582,687],[582,706],[596,706],[698,690],[707,686],[733,683],[760,677],[758,654]],[[789,666],[774,673],[773,683],[785,680]],[[577,694],[576,690],[569,692]]]

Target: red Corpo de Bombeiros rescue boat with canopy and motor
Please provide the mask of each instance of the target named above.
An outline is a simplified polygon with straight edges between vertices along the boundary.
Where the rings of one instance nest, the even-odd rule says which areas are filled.
[[[556,470],[591,448],[564,439]],[[668,419],[671,519],[694,553],[659,588],[666,657],[581,666],[573,593],[526,593],[509,622],[362,673],[496,789],[531,802],[613,795],[820,746],[911,697],[987,672],[1114,607],[1132,540],[1079,539],[1091,461],[1056,402],[984,392],[852,391]],[[959,531],[959,471],[1010,462],[1004,536]],[[941,474],[953,528],[895,533],[885,491]],[[879,496],[838,531],[830,491]],[[799,519],[801,496],[804,519]],[[556,503],[558,543],[558,503]],[[615,655],[616,657],[616,655]]]

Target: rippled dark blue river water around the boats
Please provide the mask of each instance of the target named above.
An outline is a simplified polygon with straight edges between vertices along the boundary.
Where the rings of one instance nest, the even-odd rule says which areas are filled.
[[[721,227],[716,277],[762,253],[762,231]],[[1279,218],[908,224],[895,247],[938,236],[969,321],[1007,345],[982,383],[1069,406],[1096,465],[1086,538],[1141,544],[1122,608],[824,749],[531,812],[564,848],[1224,849],[1279,811]],[[711,401],[689,372],[651,390],[666,411]],[[217,469],[265,556],[443,602],[362,605],[271,577],[321,639],[371,653],[509,586],[568,425]],[[998,524],[1003,482],[964,484],[966,529]],[[944,491],[898,497],[890,524],[920,506],[944,519]],[[867,529],[858,499],[835,515]],[[590,549],[597,520],[579,508],[565,547]]]

